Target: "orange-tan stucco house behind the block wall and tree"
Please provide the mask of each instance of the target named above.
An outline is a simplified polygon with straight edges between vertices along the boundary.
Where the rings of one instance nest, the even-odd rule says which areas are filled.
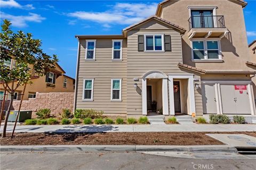
[[[13,60],[4,61],[6,66],[11,66]],[[32,84],[28,84],[25,90],[23,100],[28,98],[35,98],[36,92],[74,92],[75,79],[65,75],[65,71],[60,67],[58,63],[55,64],[55,69],[46,73],[46,75],[39,77],[35,76],[31,78]],[[16,84],[16,83],[15,83]],[[15,86],[14,84],[14,86]],[[20,86],[14,94],[14,100],[20,100],[23,86]],[[4,97],[4,87],[0,84],[0,100]],[[6,99],[10,99],[8,95]]]

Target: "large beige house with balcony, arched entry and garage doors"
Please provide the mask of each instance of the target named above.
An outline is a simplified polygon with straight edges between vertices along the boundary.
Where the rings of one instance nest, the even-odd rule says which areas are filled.
[[[74,108],[255,114],[244,1],[164,1],[122,35],[76,36]]]

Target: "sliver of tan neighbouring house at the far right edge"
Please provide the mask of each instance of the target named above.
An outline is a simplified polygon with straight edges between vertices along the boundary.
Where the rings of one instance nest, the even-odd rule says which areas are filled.
[[[251,44],[249,44],[249,54],[250,59],[246,62],[246,65],[250,68],[256,70],[256,40],[252,41]],[[252,76],[252,86],[253,86],[253,94],[254,94],[254,100],[256,97],[256,76]],[[256,100],[255,100],[256,103]]]

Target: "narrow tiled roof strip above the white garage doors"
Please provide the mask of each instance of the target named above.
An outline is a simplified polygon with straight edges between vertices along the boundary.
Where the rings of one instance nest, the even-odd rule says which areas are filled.
[[[256,74],[255,71],[215,71],[215,70],[203,70],[203,69],[198,69],[197,67],[193,67],[187,64],[178,64],[179,67],[183,69],[187,69],[190,71],[198,72],[201,74]]]

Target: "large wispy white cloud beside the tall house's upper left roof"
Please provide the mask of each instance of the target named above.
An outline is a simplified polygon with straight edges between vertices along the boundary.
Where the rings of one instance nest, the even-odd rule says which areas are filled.
[[[116,3],[110,10],[103,12],[76,11],[67,15],[79,20],[101,23],[103,27],[110,28],[114,24],[133,24],[146,17],[153,15],[156,11],[156,3]]]

